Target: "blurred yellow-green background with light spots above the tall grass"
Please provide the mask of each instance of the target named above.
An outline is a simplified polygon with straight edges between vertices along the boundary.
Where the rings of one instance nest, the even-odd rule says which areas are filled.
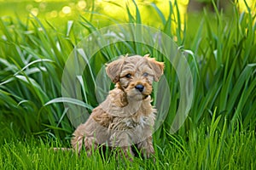
[[[163,28],[160,15],[154,10],[152,3],[167,18],[170,11],[168,0],[135,0],[135,2],[140,10],[143,24]],[[174,4],[174,0],[171,2]],[[187,22],[187,35],[189,37],[192,38],[192,35],[197,31],[203,18],[204,8],[209,12],[209,17],[212,17],[212,23],[217,25],[212,2],[216,4],[219,11],[224,13],[224,20],[232,20],[234,4],[239,8],[240,13],[247,12],[247,7],[243,0],[178,0],[178,13],[180,14],[181,22],[183,24],[185,20]],[[254,11],[252,13],[255,14],[255,1],[247,0],[246,2],[251,10]],[[132,15],[136,14],[132,0],[0,0],[0,5],[0,16],[6,18],[6,20],[12,17],[14,21],[21,20],[26,23],[28,18],[36,16],[45,27],[54,26],[59,31],[63,31],[66,28],[67,20],[77,22],[81,16],[90,20],[95,26],[102,27],[116,24],[117,22],[127,22],[128,14],[126,14],[126,8],[130,8]],[[173,10],[176,9],[173,8]],[[78,29],[78,31],[81,30]]]

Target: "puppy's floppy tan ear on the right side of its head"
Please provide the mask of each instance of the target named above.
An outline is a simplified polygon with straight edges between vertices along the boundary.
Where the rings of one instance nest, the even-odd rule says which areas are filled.
[[[148,59],[148,65],[154,71],[154,81],[158,82],[160,77],[164,73],[164,63],[156,61],[154,58],[149,58],[149,54],[144,55],[144,58]]]

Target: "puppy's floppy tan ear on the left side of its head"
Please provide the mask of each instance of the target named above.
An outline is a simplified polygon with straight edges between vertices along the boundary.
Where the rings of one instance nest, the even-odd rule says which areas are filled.
[[[119,82],[119,75],[121,73],[124,62],[125,58],[121,57],[120,59],[114,60],[107,64],[106,72],[112,82]]]

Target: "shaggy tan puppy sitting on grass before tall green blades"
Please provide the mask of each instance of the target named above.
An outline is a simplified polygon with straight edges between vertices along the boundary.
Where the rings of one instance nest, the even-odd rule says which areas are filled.
[[[156,110],[150,104],[150,94],[153,82],[158,82],[163,74],[164,64],[148,56],[125,56],[107,65],[107,75],[115,88],[73,133],[74,150],[80,153],[84,145],[90,156],[91,150],[105,144],[119,147],[126,157],[132,157],[131,145],[136,144],[143,156],[154,154]]]

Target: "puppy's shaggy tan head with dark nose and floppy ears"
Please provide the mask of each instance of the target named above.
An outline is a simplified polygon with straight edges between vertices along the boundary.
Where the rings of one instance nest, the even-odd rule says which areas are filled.
[[[107,65],[108,77],[128,98],[146,99],[152,93],[152,83],[163,74],[164,63],[148,56],[121,57]]]

